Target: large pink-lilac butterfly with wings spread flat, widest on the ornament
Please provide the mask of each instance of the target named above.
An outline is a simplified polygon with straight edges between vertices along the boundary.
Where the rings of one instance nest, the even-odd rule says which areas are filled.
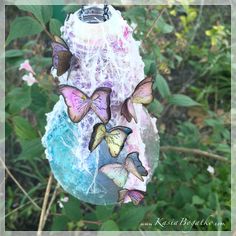
[[[80,122],[90,109],[96,113],[102,122],[107,123],[110,120],[110,88],[97,88],[91,97],[69,85],[59,86],[59,91],[64,97],[68,107],[68,115],[72,122]]]

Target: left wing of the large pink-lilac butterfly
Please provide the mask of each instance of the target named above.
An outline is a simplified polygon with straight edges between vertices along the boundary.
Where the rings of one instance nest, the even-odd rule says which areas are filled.
[[[68,107],[71,121],[74,123],[80,122],[91,107],[88,97],[79,89],[69,85],[61,85],[59,91]]]

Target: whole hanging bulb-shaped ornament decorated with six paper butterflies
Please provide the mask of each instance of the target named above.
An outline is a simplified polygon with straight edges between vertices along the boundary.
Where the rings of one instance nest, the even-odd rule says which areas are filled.
[[[52,42],[60,99],[47,114],[42,142],[65,191],[97,205],[139,204],[159,156],[156,119],[145,105],[139,42],[112,6],[70,14]]]

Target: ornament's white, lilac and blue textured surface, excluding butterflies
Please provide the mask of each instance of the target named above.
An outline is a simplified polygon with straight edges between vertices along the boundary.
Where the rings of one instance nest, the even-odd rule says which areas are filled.
[[[128,123],[120,116],[122,102],[145,78],[144,63],[139,55],[139,42],[132,37],[132,29],[119,11],[111,6],[109,9],[112,17],[106,22],[82,22],[78,12],[65,21],[61,28],[62,38],[80,62],[68,81],[67,73],[60,76],[59,81],[60,84],[75,86],[89,96],[97,87],[110,87],[112,117],[107,128],[124,125],[130,127],[133,133],[118,158],[110,156],[105,141],[90,153],[88,143],[92,129],[100,120],[91,111],[80,123],[72,123],[64,99],[60,97],[53,111],[47,114],[46,132],[42,139],[46,156],[60,185],[75,197],[97,205],[115,204],[120,190],[99,171],[100,166],[123,163],[129,152],[138,151],[149,174],[144,177],[144,182],[130,174],[124,188],[146,191],[159,156],[156,119],[148,114],[146,108],[135,105],[137,124],[134,121]],[[54,69],[52,74],[56,75]]]

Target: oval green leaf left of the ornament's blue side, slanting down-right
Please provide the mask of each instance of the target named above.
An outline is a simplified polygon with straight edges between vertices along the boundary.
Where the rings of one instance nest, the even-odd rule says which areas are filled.
[[[12,119],[16,136],[20,139],[31,140],[37,137],[37,133],[31,124],[20,116],[15,116]]]

